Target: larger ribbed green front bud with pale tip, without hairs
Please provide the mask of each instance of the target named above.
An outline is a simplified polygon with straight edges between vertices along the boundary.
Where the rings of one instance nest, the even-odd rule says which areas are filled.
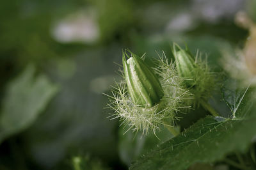
[[[153,107],[163,97],[163,88],[151,68],[141,58],[130,53],[131,57],[126,51],[123,53],[124,76],[129,95],[134,104]]]

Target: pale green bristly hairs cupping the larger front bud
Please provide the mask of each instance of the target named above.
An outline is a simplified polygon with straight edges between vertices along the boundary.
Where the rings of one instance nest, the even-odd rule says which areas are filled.
[[[130,54],[135,55],[132,52]],[[156,63],[157,67],[150,69],[156,75],[164,92],[157,104],[152,107],[141,107],[134,103],[128,92],[124,73],[122,73],[123,81],[116,83],[116,87],[112,89],[112,95],[108,95],[110,101],[108,107],[115,111],[109,118],[111,120],[120,118],[122,121],[120,126],[123,125],[127,131],[142,130],[143,134],[148,134],[148,132],[156,134],[156,130],[160,130],[162,125],[174,126],[175,121],[179,120],[177,112],[188,107],[184,105],[184,100],[192,98],[191,93],[182,86],[183,79],[177,75],[175,65],[168,61],[164,52]]]

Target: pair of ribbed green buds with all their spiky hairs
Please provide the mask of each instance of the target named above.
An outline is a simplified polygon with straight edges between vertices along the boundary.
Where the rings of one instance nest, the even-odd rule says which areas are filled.
[[[177,112],[190,107],[188,101],[206,97],[213,84],[207,65],[176,44],[173,55],[175,63],[163,52],[157,66],[150,68],[131,51],[123,52],[124,80],[109,96],[108,105],[115,110],[112,118],[120,118],[128,130],[155,133],[161,125],[173,127],[179,120]]]

